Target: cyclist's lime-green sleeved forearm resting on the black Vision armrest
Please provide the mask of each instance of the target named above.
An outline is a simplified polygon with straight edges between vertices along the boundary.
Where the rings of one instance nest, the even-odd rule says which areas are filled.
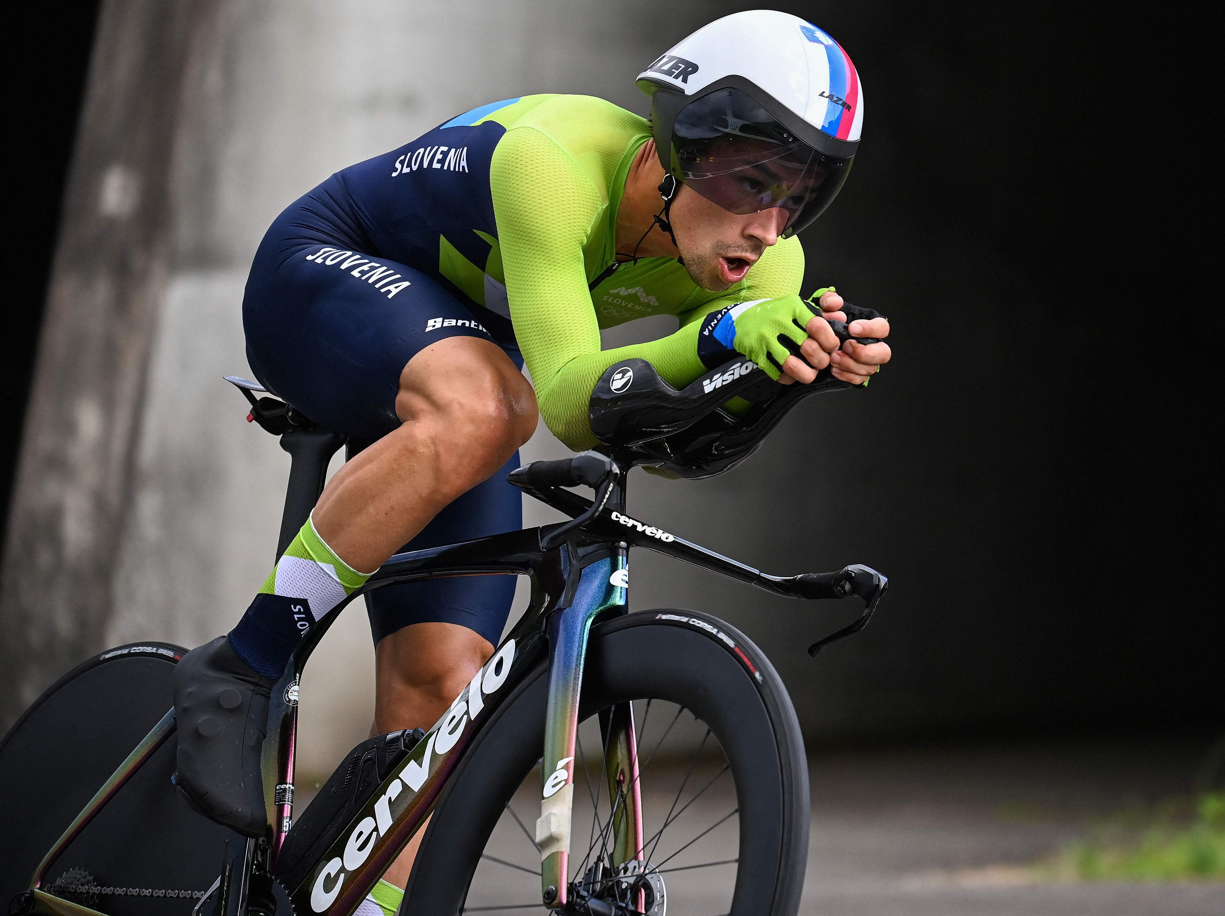
[[[587,409],[605,370],[624,359],[644,359],[669,385],[682,388],[706,371],[697,356],[701,327],[699,322],[693,322],[658,340],[584,353],[567,361],[550,378],[533,378],[540,416],[552,435],[576,452],[594,447],[597,440]]]

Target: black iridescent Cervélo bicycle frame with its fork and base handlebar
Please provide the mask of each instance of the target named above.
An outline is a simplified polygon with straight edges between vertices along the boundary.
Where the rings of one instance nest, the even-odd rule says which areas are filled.
[[[571,518],[592,503],[567,490],[524,487],[532,496]],[[512,687],[548,656],[549,694],[541,760],[541,811],[537,844],[541,852],[541,899],[554,910],[566,907],[575,747],[583,663],[592,625],[601,616],[627,612],[628,551],[644,546],[751,585],[791,598],[802,594],[802,577],[774,577],[624,514],[625,485],[619,479],[600,512],[545,550],[550,534],[562,525],[545,525],[497,534],[474,541],[393,556],[345,604],[376,588],[398,582],[450,576],[528,576],[528,610],[492,658],[473,677],[451,708],[413,751],[390,773],[368,803],[350,819],[332,847],[310,866],[306,877],[285,887],[295,912],[350,916],[383,872],[425,823],[457,769],[472,737],[512,693]],[[343,607],[343,606],[342,606]],[[337,609],[338,611],[342,609]],[[298,727],[298,683],[306,660],[331,623],[330,614],[299,644],[272,694],[267,738],[261,760],[268,835],[260,841],[230,844],[234,858],[223,874],[244,876],[254,867],[278,876],[284,841],[293,827],[294,754]],[[601,713],[605,776],[614,801],[612,865],[639,860],[643,852],[642,807],[636,758],[632,704]],[[83,830],[132,774],[174,734],[168,711],[129,754],[44,856],[31,882],[33,912],[97,914],[45,890],[42,882],[64,849]],[[228,914],[245,912],[245,877],[239,888],[214,885]],[[283,885],[284,887],[284,885]],[[211,896],[209,892],[209,896]],[[206,896],[206,900],[209,899]],[[98,916],[102,916],[100,914]],[[221,914],[218,915],[221,916]]]

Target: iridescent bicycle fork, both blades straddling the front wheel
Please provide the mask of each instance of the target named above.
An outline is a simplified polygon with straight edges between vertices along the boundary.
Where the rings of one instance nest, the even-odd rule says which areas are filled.
[[[575,563],[576,557],[570,557]],[[578,561],[581,565],[582,561]],[[578,735],[578,699],[583,683],[587,639],[597,616],[625,607],[628,589],[626,549],[594,558],[567,576],[567,606],[549,618],[549,704],[545,710],[541,758],[540,818],[535,841],[540,847],[540,892],[549,909],[567,906],[570,828],[575,800],[575,754]],[[612,866],[642,856],[642,805],[638,785],[637,741],[633,708],[619,703],[601,715],[605,779],[611,803]]]

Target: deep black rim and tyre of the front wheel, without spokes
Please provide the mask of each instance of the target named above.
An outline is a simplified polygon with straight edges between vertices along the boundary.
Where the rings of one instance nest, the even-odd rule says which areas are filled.
[[[463,911],[503,807],[539,760],[546,674],[543,661],[474,736],[426,829],[401,916]],[[642,698],[691,709],[733,769],[741,811],[733,916],[794,916],[807,858],[807,764],[773,666],[744,634],[693,611],[641,611],[594,627],[581,720]]]

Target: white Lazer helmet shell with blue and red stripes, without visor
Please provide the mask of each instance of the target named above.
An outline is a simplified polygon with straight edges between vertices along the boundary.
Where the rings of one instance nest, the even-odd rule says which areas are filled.
[[[864,87],[855,65],[824,31],[786,12],[750,10],[715,20],[638,73],[638,86],[648,94],[666,87],[698,96],[729,77],[755,83],[826,136],[859,142]]]

